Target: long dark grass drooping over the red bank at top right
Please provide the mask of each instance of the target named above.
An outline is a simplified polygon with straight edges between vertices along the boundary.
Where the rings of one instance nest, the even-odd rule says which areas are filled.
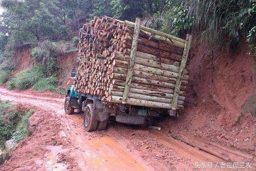
[[[224,41],[225,36],[229,36],[229,42],[237,42],[244,35],[255,45],[255,35],[250,34],[256,24],[255,0],[184,2],[188,16],[193,18],[193,30],[200,31],[211,44]]]

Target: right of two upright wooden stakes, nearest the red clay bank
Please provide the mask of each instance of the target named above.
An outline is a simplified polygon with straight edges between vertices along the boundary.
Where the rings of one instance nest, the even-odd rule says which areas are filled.
[[[181,86],[183,72],[186,67],[186,62],[187,62],[188,52],[189,52],[190,45],[191,45],[191,40],[192,40],[192,36],[187,34],[185,47],[184,47],[184,51],[183,51],[183,55],[182,55],[182,59],[181,59],[181,63],[180,63],[180,69],[179,69],[179,73],[178,73],[178,77],[177,77],[177,81],[176,81],[176,85],[175,85],[175,89],[174,89],[172,110],[177,110],[178,95],[180,92],[180,86]]]

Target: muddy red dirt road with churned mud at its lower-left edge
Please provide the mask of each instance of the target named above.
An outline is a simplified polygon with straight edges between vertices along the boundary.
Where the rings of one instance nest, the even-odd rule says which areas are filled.
[[[1,100],[35,109],[35,131],[0,170],[194,170],[196,163],[223,162],[150,129],[111,122],[106,131],[86,133],[82,113],[66,115],[65,99],[56,97],[61,96],[0,88]]]

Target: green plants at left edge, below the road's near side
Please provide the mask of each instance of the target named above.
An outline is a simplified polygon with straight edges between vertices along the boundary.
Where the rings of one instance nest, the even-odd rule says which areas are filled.
[[[28,135],[27,120],[33,110],[20,111],[9,102],[0,101],[0,146],[5,147],[5,141],[14,139],[19,142]]]

